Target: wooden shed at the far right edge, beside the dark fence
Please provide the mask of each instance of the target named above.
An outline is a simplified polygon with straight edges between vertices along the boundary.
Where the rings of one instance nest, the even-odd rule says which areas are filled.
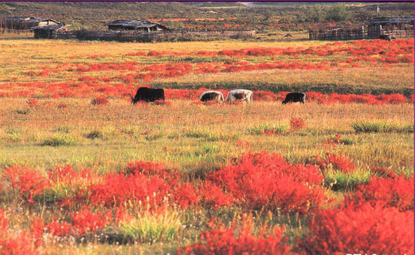
[[[413,37],[414,17],[381,17],[367,21],[367,37],[376,39],[380,35]]]

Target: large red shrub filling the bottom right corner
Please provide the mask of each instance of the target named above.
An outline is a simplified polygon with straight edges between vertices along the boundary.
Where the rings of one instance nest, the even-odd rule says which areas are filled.
[[[299,247],[306,254],[413,254],[414,212],[359,204],[325,209]]]

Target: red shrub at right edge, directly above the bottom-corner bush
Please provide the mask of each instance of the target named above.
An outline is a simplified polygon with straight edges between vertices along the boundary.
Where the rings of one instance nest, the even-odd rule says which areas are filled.
[[[391,178],[371,177],[369,183],[358,186],[348,195],[356,206],[369,202],[373,206],[394,206],[400,211],[414,210],[414,176]]]

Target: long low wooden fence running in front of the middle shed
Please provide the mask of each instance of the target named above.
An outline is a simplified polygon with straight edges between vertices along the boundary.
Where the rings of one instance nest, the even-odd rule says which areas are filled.
[[[50,38],[54,39],[80,39],[80,40],[100,40],[118,42],[185,42],[206,39],[247,39],[255,37],[255,30],[252,31],[169,31],[169,32],[142,32],[131,30],[76,30],[71,32],[55,32]]]

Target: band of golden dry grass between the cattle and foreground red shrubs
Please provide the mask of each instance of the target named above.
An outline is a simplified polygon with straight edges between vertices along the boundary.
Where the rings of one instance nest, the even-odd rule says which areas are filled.
[[[59,109],[59,103],[68,107]],[[330,151],[322,141],[338,133],[352,144],[337,150],[356,157],[362,168],[374,163],[396,170],[413,168],[412,134],[385,136],[353,130],[358,120],[412,124],[408,121],[412,105],[255,102],[220,107],[174,100],[169,107],[133,107],[125,100],[110,100],[107,107],[95,107],[82,99],[40,100],[40,104],[28,109],[28,114],[18,114],[24,100],[1,101],[3,166],[73,164],[111,170],[145,159],[167,161],[189,172],[212,170],[246,150],[237,146],[238,139],[251,141],[252,150],[279,152],[290,161],[305,162]],[[303,118],[307,129],[286,136],[248,134],[256,125],[289,125],[291,118]],[[11,139],[13,135],[18,139]],[[62,146],[47,146],[50,139],[58,139]]]

